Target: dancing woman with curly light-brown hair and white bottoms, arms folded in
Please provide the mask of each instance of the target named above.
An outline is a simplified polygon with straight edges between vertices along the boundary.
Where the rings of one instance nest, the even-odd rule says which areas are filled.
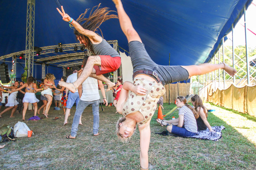
[[[48,118],[48,112],[50,109],[50,105],[52,104],[53,95],[52,95],[52,89],[50,88],[55,88],[54,80],[55,80],[55,77],[53,74],[51,73],[46,74],[46,78],[44,79],[44,85],[48,88],[41,92],[41,94],[47,98],[46,110],[44,112],[44,115],[46,116],[46,118]]]

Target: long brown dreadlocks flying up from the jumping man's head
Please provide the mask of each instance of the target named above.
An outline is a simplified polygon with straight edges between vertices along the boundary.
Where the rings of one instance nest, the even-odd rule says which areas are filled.
[[[99,7],[100,7],[100,4],[97,6],[94,6],[88,18],[85,18],[85,15],[90,9],[86,9],[85,12],[82,13],[78,19],[76,19],[76,22],[78,22],[84,29],[87,29],[93,32],[96,32],[97,29],[99,29],[103,38],[102,31],[99,28],[100,25],[103,22],[107,21],[108,19],[118,18],[118,16],[114,14],[110,14],[110,12],[115,12],[115,11],[109,11],[108,10],[109,8],[107,7],[104,7],[104,8],[99,8]],[[85,46],[87,47],[87,49],[89,49],[95,55],[94,51],[92,50],[92,46],[89,38],[85,35],[80,34],[76,29],[74,30],[74,34],[76,35],[76,39],[82,38],[86,42]]]

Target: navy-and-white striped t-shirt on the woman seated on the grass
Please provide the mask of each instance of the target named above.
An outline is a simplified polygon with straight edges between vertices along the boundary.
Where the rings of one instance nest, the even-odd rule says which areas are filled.
[[[179,115],[184,116],[184,126],[185,129],[197,133],[197,123],[196,123],[196,118],[194,117],[193,112],[187,107],[187,106],[182,106],[182,108],[179,110]]]

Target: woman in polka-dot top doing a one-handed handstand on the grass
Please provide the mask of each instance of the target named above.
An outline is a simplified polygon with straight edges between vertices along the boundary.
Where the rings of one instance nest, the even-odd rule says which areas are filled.
[[[222,68],[230,75],[236,70],[224,63],[204,63],[198,66],[160,66],[151,60],[130,18],[124,11],[121,0],[113,0],[117,8],[119,22],[128,40],[130,58],[133,64],[133,83],[125,82],[117,102],[117,111],[123,115],[116,126],[116,134],[122,141],[133,135],[138,125],[140,132],[140,167],[148,169],[148,149],[150,142],[150,120],[156,103],[164,95],[163,85],[187,80]]]

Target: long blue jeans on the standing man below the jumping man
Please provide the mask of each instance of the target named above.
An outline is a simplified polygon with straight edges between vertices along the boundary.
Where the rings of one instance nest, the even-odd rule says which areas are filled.
[[[82,115],[82,112],[84,112],[84,109],[90,104],[92,105],[92,114],[94,115],[93,133],[94,134],[98,133],[99,122],[100,122],[100,116],[98,111],[99,111],[100,100],[95,100],[91,102],[80,100],[76,107],[76,112],[75,112],[72,129],[70,133],[71,136],[74,136],[74,137],[76,136],[78,131],[79,119]]]

